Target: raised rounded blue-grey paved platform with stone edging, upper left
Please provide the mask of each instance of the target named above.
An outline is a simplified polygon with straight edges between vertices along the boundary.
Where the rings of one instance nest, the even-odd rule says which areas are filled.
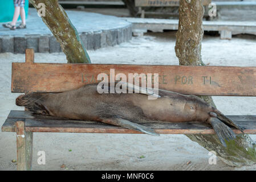
[[[132,24],[124,19],[84,11],[66,12],[87,49],[115,46],[132,38]],[[0,52],[24,53],[26,48],[34,48],[35,52],[61,51],[35,9],[29,9],[26,29],[13,31],[0,23]]]

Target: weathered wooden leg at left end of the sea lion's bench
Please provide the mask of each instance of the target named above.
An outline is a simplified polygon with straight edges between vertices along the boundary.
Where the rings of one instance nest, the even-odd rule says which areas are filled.
[[[17,121],[17,170],[31,170],[33,133],[25,131],[25,122]]]

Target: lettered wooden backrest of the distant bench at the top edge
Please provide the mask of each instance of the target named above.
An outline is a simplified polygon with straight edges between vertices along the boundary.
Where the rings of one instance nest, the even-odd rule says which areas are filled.
[[[194,1],[194,0],[192,0]],[[202,5],[209,5],[211,0],[202,0]],[[180,0],[135,0],[136,7],[146,6],[179,6]]]

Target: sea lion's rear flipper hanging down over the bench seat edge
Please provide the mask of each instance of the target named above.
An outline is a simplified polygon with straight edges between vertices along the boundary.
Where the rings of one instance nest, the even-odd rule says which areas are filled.
[[[226,142],[235,139],[235,134],[233,130],[230,129],[227,125],[221,122],[218,118],[210,117],[209,123],[212,125],[214,131],[216,132],[221,143],[226,147]]]

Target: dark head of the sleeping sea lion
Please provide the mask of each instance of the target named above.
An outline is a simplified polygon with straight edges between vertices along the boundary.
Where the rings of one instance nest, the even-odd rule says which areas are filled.
[[[17,106],[25,106],[26,109],[36,114],[50,115],[46,106],[42,104],[45,93],[26,93],[16,98]]]

